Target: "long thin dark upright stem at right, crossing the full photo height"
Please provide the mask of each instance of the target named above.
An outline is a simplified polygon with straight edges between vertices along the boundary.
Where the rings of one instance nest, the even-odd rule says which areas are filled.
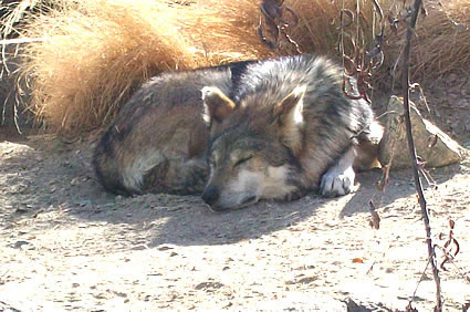
[[[431,263],[432,275],[436,282],[437,305],[435,308],[435,311],[442,311],[439,270],[436,264],[436,253],[435,253],[435,249],[432,247],[432,240],[431,240],[431,227],[429,225],[428,209],[426,207],[426,199],[422,193],[422,185],[421,185],[421,180],[419,178],[419,173],[418,173],[416,148],[415,148],[415,142],[412,139],[411,119],[409,116],[410,114],[409,113],[409,76],[408,76],[409,51],[411,45],[411,37],[416,27],[416,20],[418,18],[418,13],[420,11],[421,6],[422,6],[421,0],[415,0],[415,3],[412,4],[410,21],[406,30],[406,38],[405,38],[406,41],[405,41],[405,46],[403,50],[403,89],[404,89],[405,124],[406,124],[406,132],[407,132],[407,138],[408,138],[409,154],[410,154],[411,163],[412,163],[412,174],[415,176],[416,191],[418,193],[419,205],[421,206],[421,215],[424,217],[425,226],[426,226],[426,238],[428,243],[429,262]]]

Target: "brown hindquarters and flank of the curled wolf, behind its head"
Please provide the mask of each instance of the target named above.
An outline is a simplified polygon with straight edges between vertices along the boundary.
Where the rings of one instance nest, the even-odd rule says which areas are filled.
[[[209,132],[200,90],[217,85],[230,93],[248,63],[164,73],[144,84],[95,149],[93,166],[104,188],[123,195],[202,191]]]

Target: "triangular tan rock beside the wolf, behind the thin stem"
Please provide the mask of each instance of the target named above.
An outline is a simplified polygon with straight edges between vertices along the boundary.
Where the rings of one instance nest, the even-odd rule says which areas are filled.
[[[393,168],[408,168],[411,166],[411,162],[406,138],[403,100],[391,96],[387,112],[396,113],[387,115],[378,160],[385,166],[393,158]],[[425,162],[426,167],[442,167],[462,159],[463,148],[432,123],[425,119],[411,102],[410,116],[416,154]]]

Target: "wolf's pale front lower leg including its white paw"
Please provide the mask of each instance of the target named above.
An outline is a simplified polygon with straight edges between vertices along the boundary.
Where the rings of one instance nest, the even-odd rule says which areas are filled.
[[[336,197],[355,190],[353,170],[355,147],[351,147],[323,176],[320,183],[320,193],[324,197]]]

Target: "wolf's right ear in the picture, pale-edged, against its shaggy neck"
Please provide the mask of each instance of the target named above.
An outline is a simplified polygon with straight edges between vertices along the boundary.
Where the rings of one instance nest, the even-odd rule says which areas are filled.
[[[297,86],[274,106],[273,116],[281,125],[303,123],[303,96],[306,86]]]

